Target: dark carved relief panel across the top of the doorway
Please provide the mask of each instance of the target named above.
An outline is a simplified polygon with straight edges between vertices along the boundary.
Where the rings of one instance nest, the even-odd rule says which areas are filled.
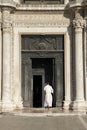
[[[22,36],[22,50],[63,50],[63,35]]]

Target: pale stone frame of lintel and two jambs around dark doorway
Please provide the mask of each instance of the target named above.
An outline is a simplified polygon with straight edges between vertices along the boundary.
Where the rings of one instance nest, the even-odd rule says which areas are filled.
[[[69,104],[71,103],[71,74],[70,74],[70,37],[68,34],[67,27],[61,27],[61,28],[44,28],[44,27],[35,27],[35,28],[15,28],[14,29],[14,56],[13,56],[13,77],[15,77],[17,80],[14,80],[14,87],[13,90],[15,91],[15,94],[17,93],[17,96],[15,94],[13,95],[13,100],[15,100],[15,97],[19,98],[21,97],[21,35],[24,34],[36,34],[36,35],[43,35],[43,34],[58,34],[58,35],[64,35],[64,81],[65,81],[65,100],[64,100],[64,108],[69,107]],[[19,44],[20,43],[20,44]],[[17,69],[17,67],[18,69]],[[16,74],[16,69],[18,70],[18,73]],[[16,84],[18,86],[16,87]],[[17,90],[16,90],[17,88]],[[18,91],[18,92],[16,92]],[[20,102],[19,102],[20,104]]]

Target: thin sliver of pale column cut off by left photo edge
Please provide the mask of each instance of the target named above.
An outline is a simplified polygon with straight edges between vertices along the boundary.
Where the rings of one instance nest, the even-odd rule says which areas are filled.
[[[0,107],[1,107],[1,85],[2,85],[2,31],[1,31],[2,13],[0,9]]]

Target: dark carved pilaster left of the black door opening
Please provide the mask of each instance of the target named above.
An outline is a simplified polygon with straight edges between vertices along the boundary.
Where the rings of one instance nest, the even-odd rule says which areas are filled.
[[[31,76],[32,76],[32,63],[31,59],[28,56],[23,56],[23,61],[22,61],[22,66],[23,66],[23,83],[22,83],[22,96],[24,100],[24,106],[31,106],[32,107],[32,94],[33,94],[33,89],[31,86]]]

